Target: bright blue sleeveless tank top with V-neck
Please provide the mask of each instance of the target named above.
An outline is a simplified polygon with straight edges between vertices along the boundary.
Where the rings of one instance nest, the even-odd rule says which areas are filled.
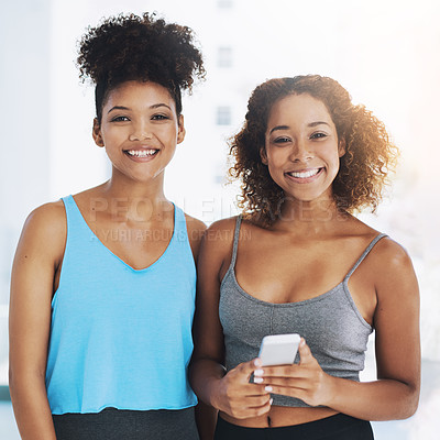
[[[99,241],[72,196],[63,201],[67,240],[46,367],[52,414],[196,405],[187,378],[196,267],[184,212],[175,207],[163,255],[134,270]]]

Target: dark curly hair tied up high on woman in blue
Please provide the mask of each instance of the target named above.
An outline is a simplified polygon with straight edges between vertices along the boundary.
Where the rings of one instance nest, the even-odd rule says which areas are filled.
[[[110,16],[97,28],[88,28],[79,43],[79,77],[96,85],[96,116],[110,90],[128,80],[164,86],[182,112],[182,89],[191,91],[194,76],[205,77],[201,53],[187,26],[166,23],[154,14]]]

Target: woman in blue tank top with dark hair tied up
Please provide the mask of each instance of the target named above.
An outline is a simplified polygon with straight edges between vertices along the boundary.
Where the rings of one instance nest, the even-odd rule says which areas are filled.
[[[164,195],[205,75],[190,29],[119,15],[80,42],[111,178],[35,209],[13,264],[10,389],[24,439],[198,439],[193,353],[205,224]]]

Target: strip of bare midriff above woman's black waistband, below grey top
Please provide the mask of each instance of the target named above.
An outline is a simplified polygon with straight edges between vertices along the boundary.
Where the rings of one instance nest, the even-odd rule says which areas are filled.
[[[273,406],[264,416],[249,419],[235,419],[226,413],[220,411],[220,417],[230,424],[246,428],[276,428],[299,424],[307,424],[330,417],[338,414],[334,409],[327,407],[319,408],[298,408],[287,406]]]

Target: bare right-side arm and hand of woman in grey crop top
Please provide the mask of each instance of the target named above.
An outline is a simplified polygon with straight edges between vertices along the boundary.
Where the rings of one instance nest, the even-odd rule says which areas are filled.
[[[403,419],[416,411],[420,392],[418,284],[405,251],[391,240],[383,244],[371,267],[377,296],[377,381],[332,377],[302,344],[299,365],[264,369],[264,383],[274,393],[366,420]]]

